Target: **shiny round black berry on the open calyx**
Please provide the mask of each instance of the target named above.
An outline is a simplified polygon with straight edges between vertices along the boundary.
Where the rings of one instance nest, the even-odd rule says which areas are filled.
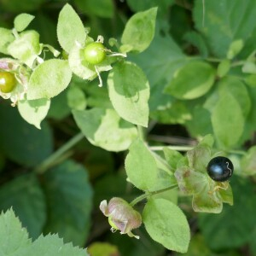
[[[207,165],[208,175],[217,182],[224,182],[228,180],[234,171],[232,162],[224,157],[217,156],[212,158]]]

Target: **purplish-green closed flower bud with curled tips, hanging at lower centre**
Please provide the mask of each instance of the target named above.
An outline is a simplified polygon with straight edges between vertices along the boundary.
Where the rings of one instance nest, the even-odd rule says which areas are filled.
[[[131,230],[137,229],[142,224],[142,216],[135,211],[130,204],[119,197],[113,197],[108,203],[101,202],[100,209],[108,217],[111,230],[120,230],[120,234],[127,234],[133,237]],[[139,238],[139,236],[134,236]]]

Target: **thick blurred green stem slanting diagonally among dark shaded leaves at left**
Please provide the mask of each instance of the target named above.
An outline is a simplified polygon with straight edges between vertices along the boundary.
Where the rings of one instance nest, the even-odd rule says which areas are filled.
[[[82,132],[79,132],[76,136],[71,138],[67,143],[65,143],[61,148],[55,151],[54,154],[51,154],[47,159],[45,159],[35,170],[37,173],[44,173],[46,172],[49,167],[54,166],[56,162],[59,162],[59,160],[62,158],[64,154],[67,154],[67,150],[70,148],[73,148],[73,146],[81,139],[84,138],[84,134]]]

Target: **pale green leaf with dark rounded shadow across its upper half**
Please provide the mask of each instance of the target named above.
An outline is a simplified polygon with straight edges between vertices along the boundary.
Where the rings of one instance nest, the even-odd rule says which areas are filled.
[[[108,76],[108,93],[123,119],[148,126],[149,84],[140,67],[131,62],[116,64]]]

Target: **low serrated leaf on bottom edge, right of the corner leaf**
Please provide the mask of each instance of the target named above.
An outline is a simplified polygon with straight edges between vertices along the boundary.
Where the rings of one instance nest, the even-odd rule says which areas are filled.
[[[71,243],[64,244],[57,235],[39,236],[31,246],[23,248],[14,256],[89,256],[86,250],[73,247]]]

